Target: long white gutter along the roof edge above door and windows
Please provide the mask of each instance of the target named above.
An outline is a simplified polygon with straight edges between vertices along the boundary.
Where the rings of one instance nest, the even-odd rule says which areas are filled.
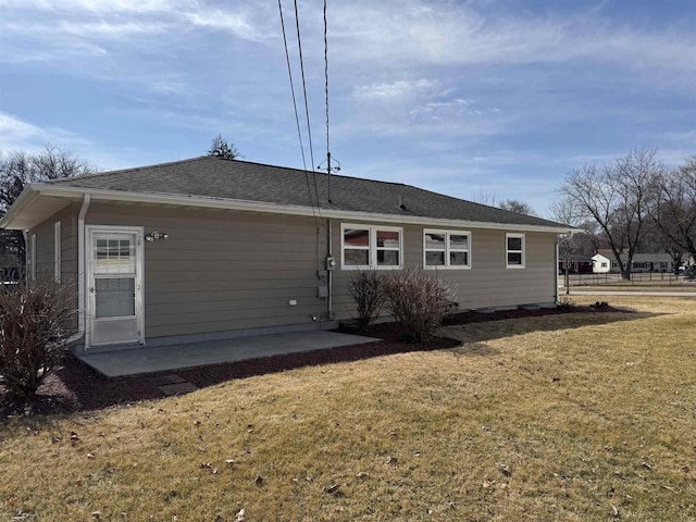
[[[86,189],[64,187],[58,185],[36,184],[36,191],[45,196],[54,196],[72,199],[82,199]],[[239,210],[248,212],[266,212],[274,214],[307,215],[312,216],[316,210],[311,207],[293,204],[268,203],[261,201],[247,201],[239,199],[209,198],[202,196],[181,196],[156,192],[128,192],[124,190],[89,189],[92,200],[124,201],[136,203],[177,204],[185,207],[202,207],[208,209]],[[572,227],[557,227],[547,225],[524,225],[514,223],[495,223],[471,220],[450,220],[412,215],[380,214],[374,212],[360,212],[334,209],[321,209],[322,215],[327,219],[358,220],[366,222],[380,221],[383,223],[399,223],[427,226],[458,226],[468,228],[489,228],[508,232],[549,232],[555,234],[580,232]]]

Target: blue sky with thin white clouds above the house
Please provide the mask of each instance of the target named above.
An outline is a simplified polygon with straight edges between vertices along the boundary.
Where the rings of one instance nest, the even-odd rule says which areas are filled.
[[[322,2],[298,10],[319,164]],[[302,166],[276,0],[0,0],[0,150],[51,144],[111,170],[200,156],[222,134],[245,160]],[[327,16],[341,174],[544,215],[583,162],[696,153],[692,0],[330,0]]]

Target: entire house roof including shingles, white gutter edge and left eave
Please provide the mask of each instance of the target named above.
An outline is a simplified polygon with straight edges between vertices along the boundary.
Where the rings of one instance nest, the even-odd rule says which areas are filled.
[[[200,157],[33,185],[25,192],[36,194],[23,192],[0,225],[26,228],[29,222],[39,219],[39,214],[55,212],[61,200],[78,200],[84,194],[89,194],[92,200],[213,208],[238,208],[244,203],[247,210],[311,215],[316,211],[318,191],[320,212],[325,217],[391,217],[391,221],[396,219],[403,223],[455,221],[514,225],[517,229],[559,233],[570,231],[566,225],[540,217],[474,203],[400,183],[332,175],[331,202],[327,189],[326,174]],[[67,203],[63,203],[65,204]],[[36,215],[29,219],[27,214],[22,219],[23,212],[28,212],[29,207],[36,207]],[[44,219],[48,216],[50,214]]]

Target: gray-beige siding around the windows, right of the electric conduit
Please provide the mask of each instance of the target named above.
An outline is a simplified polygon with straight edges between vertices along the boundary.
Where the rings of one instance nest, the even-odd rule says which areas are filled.
[[[394,225],[384,224],[384,226]],[[423,229],[440,227],[407,225],[402,228],[405,263],[422,266]],[[448,227],[447,229],[457,228]],[[555,234],[525,233],[525,268],[508,269],[506,231],[482,228],[462,228],[462,231],[471,233],[471,269],[437,270],[440,277],[457,284],[457,302],[460,310],[555,302]],[[334,222],[333,234],[334,252],[338,260],[334,277],[334,311],[338,319],[347,319],[352,316],[353,303],[346,290],[346,277],[350,271],[341,270],[339,262],[340,222]]]

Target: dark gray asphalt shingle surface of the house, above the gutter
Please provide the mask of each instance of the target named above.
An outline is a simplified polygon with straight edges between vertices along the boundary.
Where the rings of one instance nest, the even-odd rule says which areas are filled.
[[[326,174],[213,157],[48,183],[85,189],[197,196],[300,207],[311,207],[310,188],[314,194],[315,183],[322,209],[566,228],[540,217],[509,212],[410,185],[341,175],[331,176],[330,202]],[[313,199],[316,204],[315,197]]]

